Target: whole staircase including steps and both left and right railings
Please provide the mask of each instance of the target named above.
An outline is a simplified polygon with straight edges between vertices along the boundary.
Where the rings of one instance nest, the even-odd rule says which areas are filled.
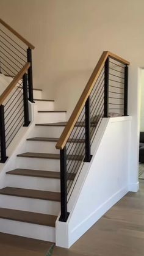
[[[70,247],[97,219],[95,216],[85,227],[77,223],[81,214],[84,222],[91,218],[91,207],[94,213],[95,207],[100,207],[101,202],[96,205],[91,194],[95,187],[92,166],[98,149],[96,136],[103,136],[104,119],[128,115],[129,62],[109,51],[103,52],[67,122],[67,111],[56,110],[54,100],[43,99],[42,90],[33,89],[35,47],[0,19],[1,25],[0,232]],[[92,177],[87,188],[90,169]],[[81,211],[84,187],[85,195],[91,198],[83,196],[88,207]],[[124,192],[125,187],[117,198]],[[117,191],[113,189],[112,193]]]

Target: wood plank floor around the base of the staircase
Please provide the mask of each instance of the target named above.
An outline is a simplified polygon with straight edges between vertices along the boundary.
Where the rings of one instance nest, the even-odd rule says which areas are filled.
[[[45,256],[51,243],[0,233],[1,256]],[[52,256],[143,256],[144,180],[107,211],[70,249],[55,247]]]

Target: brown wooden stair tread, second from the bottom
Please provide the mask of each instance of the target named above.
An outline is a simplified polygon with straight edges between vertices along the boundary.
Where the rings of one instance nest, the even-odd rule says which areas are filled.
[[[0,189],[0,194],[7,196],[29,197],[33,199],[49,200],[60,202],[60,193],[41,191],[35,189],[5,187]]]

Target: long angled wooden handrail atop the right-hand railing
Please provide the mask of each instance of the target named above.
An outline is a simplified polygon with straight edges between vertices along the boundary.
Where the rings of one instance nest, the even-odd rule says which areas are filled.
[[[90,79],[87,82],[87,86],[85,87],[84,91],[82,92],[82,95],[79,98],[79,100],[76,104],[76,107],[74,108],[74,111],[71,114],[70,119],[68,120],[67,126],[65,126],[65,129],[63,130],[63,133],[60,136],[59,141],[56,144],[57,149],[62,150],[65,147],[65,145],[70,137],[70,134],[73,131],[74,125],[76,124],[77,119],[79,118],[79,115],[81,114],[81,111],[85,106],[85,102],[87,101],[88,96],[92,92],[93,87],[95,86],[95,83],[96,83],[101,71],[103,70],[104,63],[105,63],[107,57],[111,57],[112,59],[118,60],[122,64],[126,64],[126,65],[130,64],[127,60],[117,56],[116,54],[110,53],[110,51],[103,52],[103,54],[101,55],[101,57],[98,61],[98,64],[96,65],[95,69],[93,70],[92,76],[90,76]]]

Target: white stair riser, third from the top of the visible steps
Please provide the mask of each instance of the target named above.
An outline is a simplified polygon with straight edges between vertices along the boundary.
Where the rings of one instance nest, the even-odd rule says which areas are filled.
[[[35,117],[36,123],[56,123],[66,120],[65,112],[38,112]]]

